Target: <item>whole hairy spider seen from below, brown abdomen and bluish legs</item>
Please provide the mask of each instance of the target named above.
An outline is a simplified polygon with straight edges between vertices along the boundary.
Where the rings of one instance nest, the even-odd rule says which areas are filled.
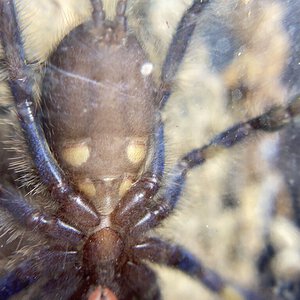
[[[2,209],[46,240],[1,277],[1,298],[37,284],[34,296],[40,298],[57,293],[63,299],[159,299],[156,276],[146,260],[177,268],[225,299],[260,299],[150,232],[174,211],[191,169],[257,130],[281,129],[298,116],[299,97],[183,155],[163,186],[160,112],[172,94],[197,19],[210,1],[194,1],[184,13],[158,87],[149,76],[152,64],[127,29],[127,1],[118,1],[113,22],[106,20],[101,1],[91,1],[92,19],[51,54],[40,100],[14,3],[0,3],[1,41],[20,126],[45,193],[57,203],[50,214],[1,183]]]

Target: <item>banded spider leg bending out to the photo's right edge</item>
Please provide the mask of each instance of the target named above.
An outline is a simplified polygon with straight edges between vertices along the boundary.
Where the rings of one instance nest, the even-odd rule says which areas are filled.
[[[135,214],[136,225],[131,229],[132,235],[143,234],[154,228],[174,210],[184,187],[186,174],[194,167],[200,166],[209,158],[216,156],[224,149],[230,148],[256,131],[277,131],[300,115],[300,96],[297,96],[287,107],[274,107],[261,116],[237,124],[215,136],[207,145],[194,149],[184,155],[171,171],[170,178],[156,203],[144,201]],[[156,207],[156,208],[155,208]]]

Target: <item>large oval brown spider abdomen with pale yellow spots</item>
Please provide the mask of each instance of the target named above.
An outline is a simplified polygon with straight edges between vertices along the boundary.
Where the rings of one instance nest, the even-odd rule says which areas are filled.
[[[56,158],[107,215],[145,163],[155,88],[134,36],[112,42],[96,31],[89,22],[61,42],[46,69],[42,101]]]

